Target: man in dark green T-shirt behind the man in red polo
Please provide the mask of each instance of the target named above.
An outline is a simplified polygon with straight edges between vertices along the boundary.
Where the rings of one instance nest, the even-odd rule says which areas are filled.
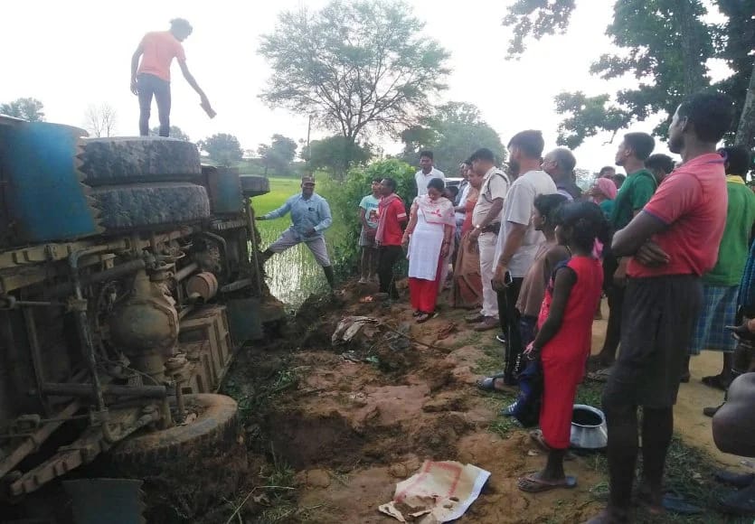
[[[621,185],[614,200],[609,222],[613,232],[624,229],[642,211],[656,192],[656,178],[645,168],[645,161],[656,146],[656,141],[646,133],[628,133],[618,145],[616,164],[627,172],[627,180]],[[624,303],[624,285],[627,280],[628,258],[619,260],[603,250],[603,289],[609,298],[609,324],[603,348],[593,360],[593,367],[607,369],[616,360],[618,342],[621,338],[621,309]],[[606,374],[603,373],[603,378]],[[596,377],[598,378],[598,377]]]

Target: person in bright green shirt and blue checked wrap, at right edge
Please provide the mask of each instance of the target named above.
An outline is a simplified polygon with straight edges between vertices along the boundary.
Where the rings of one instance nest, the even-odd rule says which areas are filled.
[[[721,373],[703,377],[703,384],[725,389],[731,382],[731,355],[737,341],[725,327],[736,323],[737,298],[744,266],[750,251],[755,224],[755,194],[744,183],[750,169],[750,151],[741,145],[719,149],[726,169],[726,229],[718,248],[718,262],[703,276],[703,310],[697,319],[690,355],[700,351],[722,351]],[[689,379],[687,369],[685,379]]]

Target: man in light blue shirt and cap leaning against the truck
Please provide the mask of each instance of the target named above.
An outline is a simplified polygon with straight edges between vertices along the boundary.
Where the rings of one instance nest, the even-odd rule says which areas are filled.
[[[278,240],[269,245],[269,248],[262,253],[262,259],[267,261],[274,254],[304,242],[315,256],[317,264],[323,268],[328,285],[333,288],[335,277],[330,258],[327,256],[326,239],[323,236],[323,231],[330,227],[333,218],[327,201],[315,193],[314,178],[303,177],[301,179],[301,194],[295,194],[277,210],[257,217],[257,220],[279,219],[289,212],[291,213],[291,226],[281,233]]]

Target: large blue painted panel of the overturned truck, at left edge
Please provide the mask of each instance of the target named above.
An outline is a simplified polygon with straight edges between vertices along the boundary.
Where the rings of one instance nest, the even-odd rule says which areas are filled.
[[[80,130],[46,122],[0,126],[5,201],[20,242],[96,234],[85,186],[75,167]]]

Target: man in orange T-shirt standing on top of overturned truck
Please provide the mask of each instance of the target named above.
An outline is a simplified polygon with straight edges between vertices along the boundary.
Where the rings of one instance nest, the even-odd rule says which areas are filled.
[[[210,101],[186,66],[186,54],[181,42],[184,42],[192,31],[191,24],[186,20],[174,18],[170,21],[169,31],[146,33],[131,57],[131,92],[139,97],[141,136],[149,136],[149,115],[153,95],[157,102],[160,136],[170,136],[170,65],[174,58],[178,59],[184,79],[199,95],[202,108],[211,118],[214,117]]]

